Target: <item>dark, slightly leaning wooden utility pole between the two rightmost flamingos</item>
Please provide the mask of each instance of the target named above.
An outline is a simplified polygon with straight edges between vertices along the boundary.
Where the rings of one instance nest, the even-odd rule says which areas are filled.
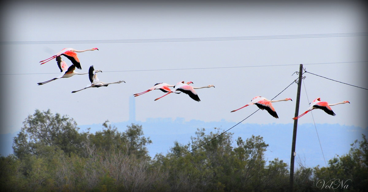
[[[299,79],[298,79],[298,90],[297,90],[297,101],[295,105],[295,115],[294,117],[298,116],[299,113],[299,101],[300,101],[300,89],[301,89],[301,79],[302,79],[302,70],[303,64],[300,64],[299,67]],[[298,120],[294,120],[294,130],[293,130],[293,143],[291,145],[291,159],[290,159],[290,192],[293,192],[293,185],[294,185],[294,159],[295,159],[295,143],[297,140],[297,126]]]

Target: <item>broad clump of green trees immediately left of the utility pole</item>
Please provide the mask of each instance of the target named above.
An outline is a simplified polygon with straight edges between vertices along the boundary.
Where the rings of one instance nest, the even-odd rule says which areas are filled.
[[[155,156],[155,163],[163,162],[162,171],[167,171],[168,191],[275,191],[286,186],[287,164],[275,159],[266,166],[268,145],[261,136],[252,135],[245,142],[238,138],[233,146],[233,134],[220,133],[215,128],[206,135],[205,129],[198,129],[188,145],[175,142],[166,156]],[[203,146],[185,153],[199,145]]]

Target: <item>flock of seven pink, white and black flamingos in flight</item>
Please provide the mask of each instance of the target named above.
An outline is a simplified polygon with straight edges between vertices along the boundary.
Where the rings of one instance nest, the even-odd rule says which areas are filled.
[[[110,84],[114,84],[114,83],[122,83],[125,81],[121,80],[121,81],[117,81],[117,82],[112,82],[112,83],[105,83],[102,82],[98,79],[97,77],[97,73],[98,72],[102,72],[101,70],[95,70],[93,65],[91,65],[89,67],[88,72],[75,72],[75,68],[81,70],[81,64],[79,62],[79,59],[77,57],[77,53],[81,53],[81,52],[85,52],[85,51],[94,51],[94,50],[98,50],[97,47],[95,48],[91,48],[91,49],[85,49],[85,50],[75,50],[72,48],[64,48],[63,50],[59,51],[59,53],[56,53],[55,55],[47,58],[46,60],[42,60],[40,61],[41,65],[47,63],[48,61],[51,61],[53,58],[56,59],[56,64],[60,69],[61,74],[53,79],[50,79],[48,81],[45,82],[40,82],[37,83],[38,85],[43,85],[45,83],[49,83],[51,81],[54,81],[56,79],[60,79],[60,78],[69,78],[72,77],[74,75],[84,75],[84,74],[88,74],[89,77],[89,81],[91,82],[90,84],[86,85],[85,88],[83,89],[79,89],[79,90],[75,90],[72,91],[71,93],[76,93],[79,92],[81,90],[87,89],[87,88],[99,88],[102,86],[108,86]],[[72,65],[70,67],[68,67],[67,63],[61,58],[61,56],[65,56],[66,58],[68,58],[71,62]],[[178,83],[176,83],[176,85],[170,85],[168,83],[156,83],[154,86],[152,86],[151,88],[147,89],[144,92],[141,93],[136,93],[134,94],[134,97],[143,95],[144,93],[148,93],[152,90],[161,90],[162,92],[166,93],[165,95],[158,97],[155,99],[159,100],[164,96],[169,95],[170,93],[185,93],[187,94],[191,99],[200,102],[201,99],[199,99],[197,92],[194,89],[203,89],[203,88],[211,88],[211,87],[215,87],[214,85],[208,85],[208,86],[203,86],[203,87],[193,87],[190,84],[192,84],[193,82],[189,81],[187,83],[184,83],[184,81],[180,81]],[[172,87],[173,89],[170,89],[170,87]],[[250,106],[252,104],[255,104],[259,109],[261,110],[266,110],[270,115],[272,115],[272,117],[275,118],[279,118],[279,116],[276,113],[275,108],[272,106],[272,103],[274,102],[280,102],[280,101],[289,101],[291,100],[291,98],[286,98],[286,99],[282,99],[282,100],[268,100],[265,97],[261,97],[261,96],[256,96],[254,97],[251,102],[249,102],[248,104],[246,104],[243,107],[240,107],[239,109],[230,111],[230,112],[235,112],[237,110],[243,109],[244,107]],[[293,100],[291,100],[293,101]],[[307,108],[307,111],[305,111],[304,113],[302,113],[301,115],[292,118],[292,120],[297,120],[298,118],[302,117],[303,115],[307,114],[309,111],[312,111],[314,109],[321,109],[323,111],[325,111],[327,114],[335,116],[336,114],[332,111],[330,106],[335,106],[337,104],[345,104],[345,103],[350,103],[349,101],[343,101],[340,103],[335,103],[335,104],[329,104],[328,102],[322,102],[321,98],[316,98],[313,100],[312,103],[309,103],[309,107]]]

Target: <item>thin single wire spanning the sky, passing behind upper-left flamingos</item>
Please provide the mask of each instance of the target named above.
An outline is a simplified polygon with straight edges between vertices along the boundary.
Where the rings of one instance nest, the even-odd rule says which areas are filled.
[[[350,62],[335,62],[335,63],[309,63],[309,64],[303,64],[303,65],[342,64],[342,63],[367,63],[367,62],[368,61],[350,61]],[[278,66],[292,66],[292,65],[299,65],[299,64],[286,64],[286,65],[252,65],[252,66],[240,66],[240,67],[176,68],[176,69],[157,69],[157,70],[123,70],[123,71],[104,71],[104,72],[202,70],[202,69],[247,68],[247,67],[278,67]],[[0,74],[0,75],[43,75],[43,74],[60,74],[60,73],[18,73],[18,74]]]

